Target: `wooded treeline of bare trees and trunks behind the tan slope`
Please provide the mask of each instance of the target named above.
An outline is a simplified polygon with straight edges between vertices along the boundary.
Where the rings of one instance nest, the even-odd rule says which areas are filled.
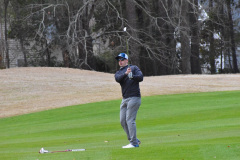
[[[9,68],[8,38],[21,44],[25,66],[115,72],[129,49],[144,75],[238,73],[239,0],[4,0],[0,65]],[[237,13],[237,14],[236,14]],[[123,28],[127,27],[124,32]],[[1,36],[3,37],[3,36]],[[29,46],[30,49],[29,49]],[[53,50],[61,48],[63,61]],[[31,50],[31,52],[30,52]],[[6,59],[4,61],[4,58]],[[222,68],[223,59],[229,68]]]

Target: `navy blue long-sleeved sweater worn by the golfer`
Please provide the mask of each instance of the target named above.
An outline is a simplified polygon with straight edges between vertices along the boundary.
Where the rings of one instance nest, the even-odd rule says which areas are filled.
[[[128,75],[125,74],[128,68],[128,66],[125,66],[115,73],[115,80],[121,85],[123,98],[141,97],[139,82],[143,81],[143,74],[137,66],[130,65],[130,67],[132,79],[129,79]]]

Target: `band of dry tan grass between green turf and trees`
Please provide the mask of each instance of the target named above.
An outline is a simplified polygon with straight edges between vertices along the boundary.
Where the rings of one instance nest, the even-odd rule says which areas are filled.
[[[144,77],[142,96],[240,90],[240,74]],[[0,118],[121,99],[114,74],[70,68],[0,70]]]

